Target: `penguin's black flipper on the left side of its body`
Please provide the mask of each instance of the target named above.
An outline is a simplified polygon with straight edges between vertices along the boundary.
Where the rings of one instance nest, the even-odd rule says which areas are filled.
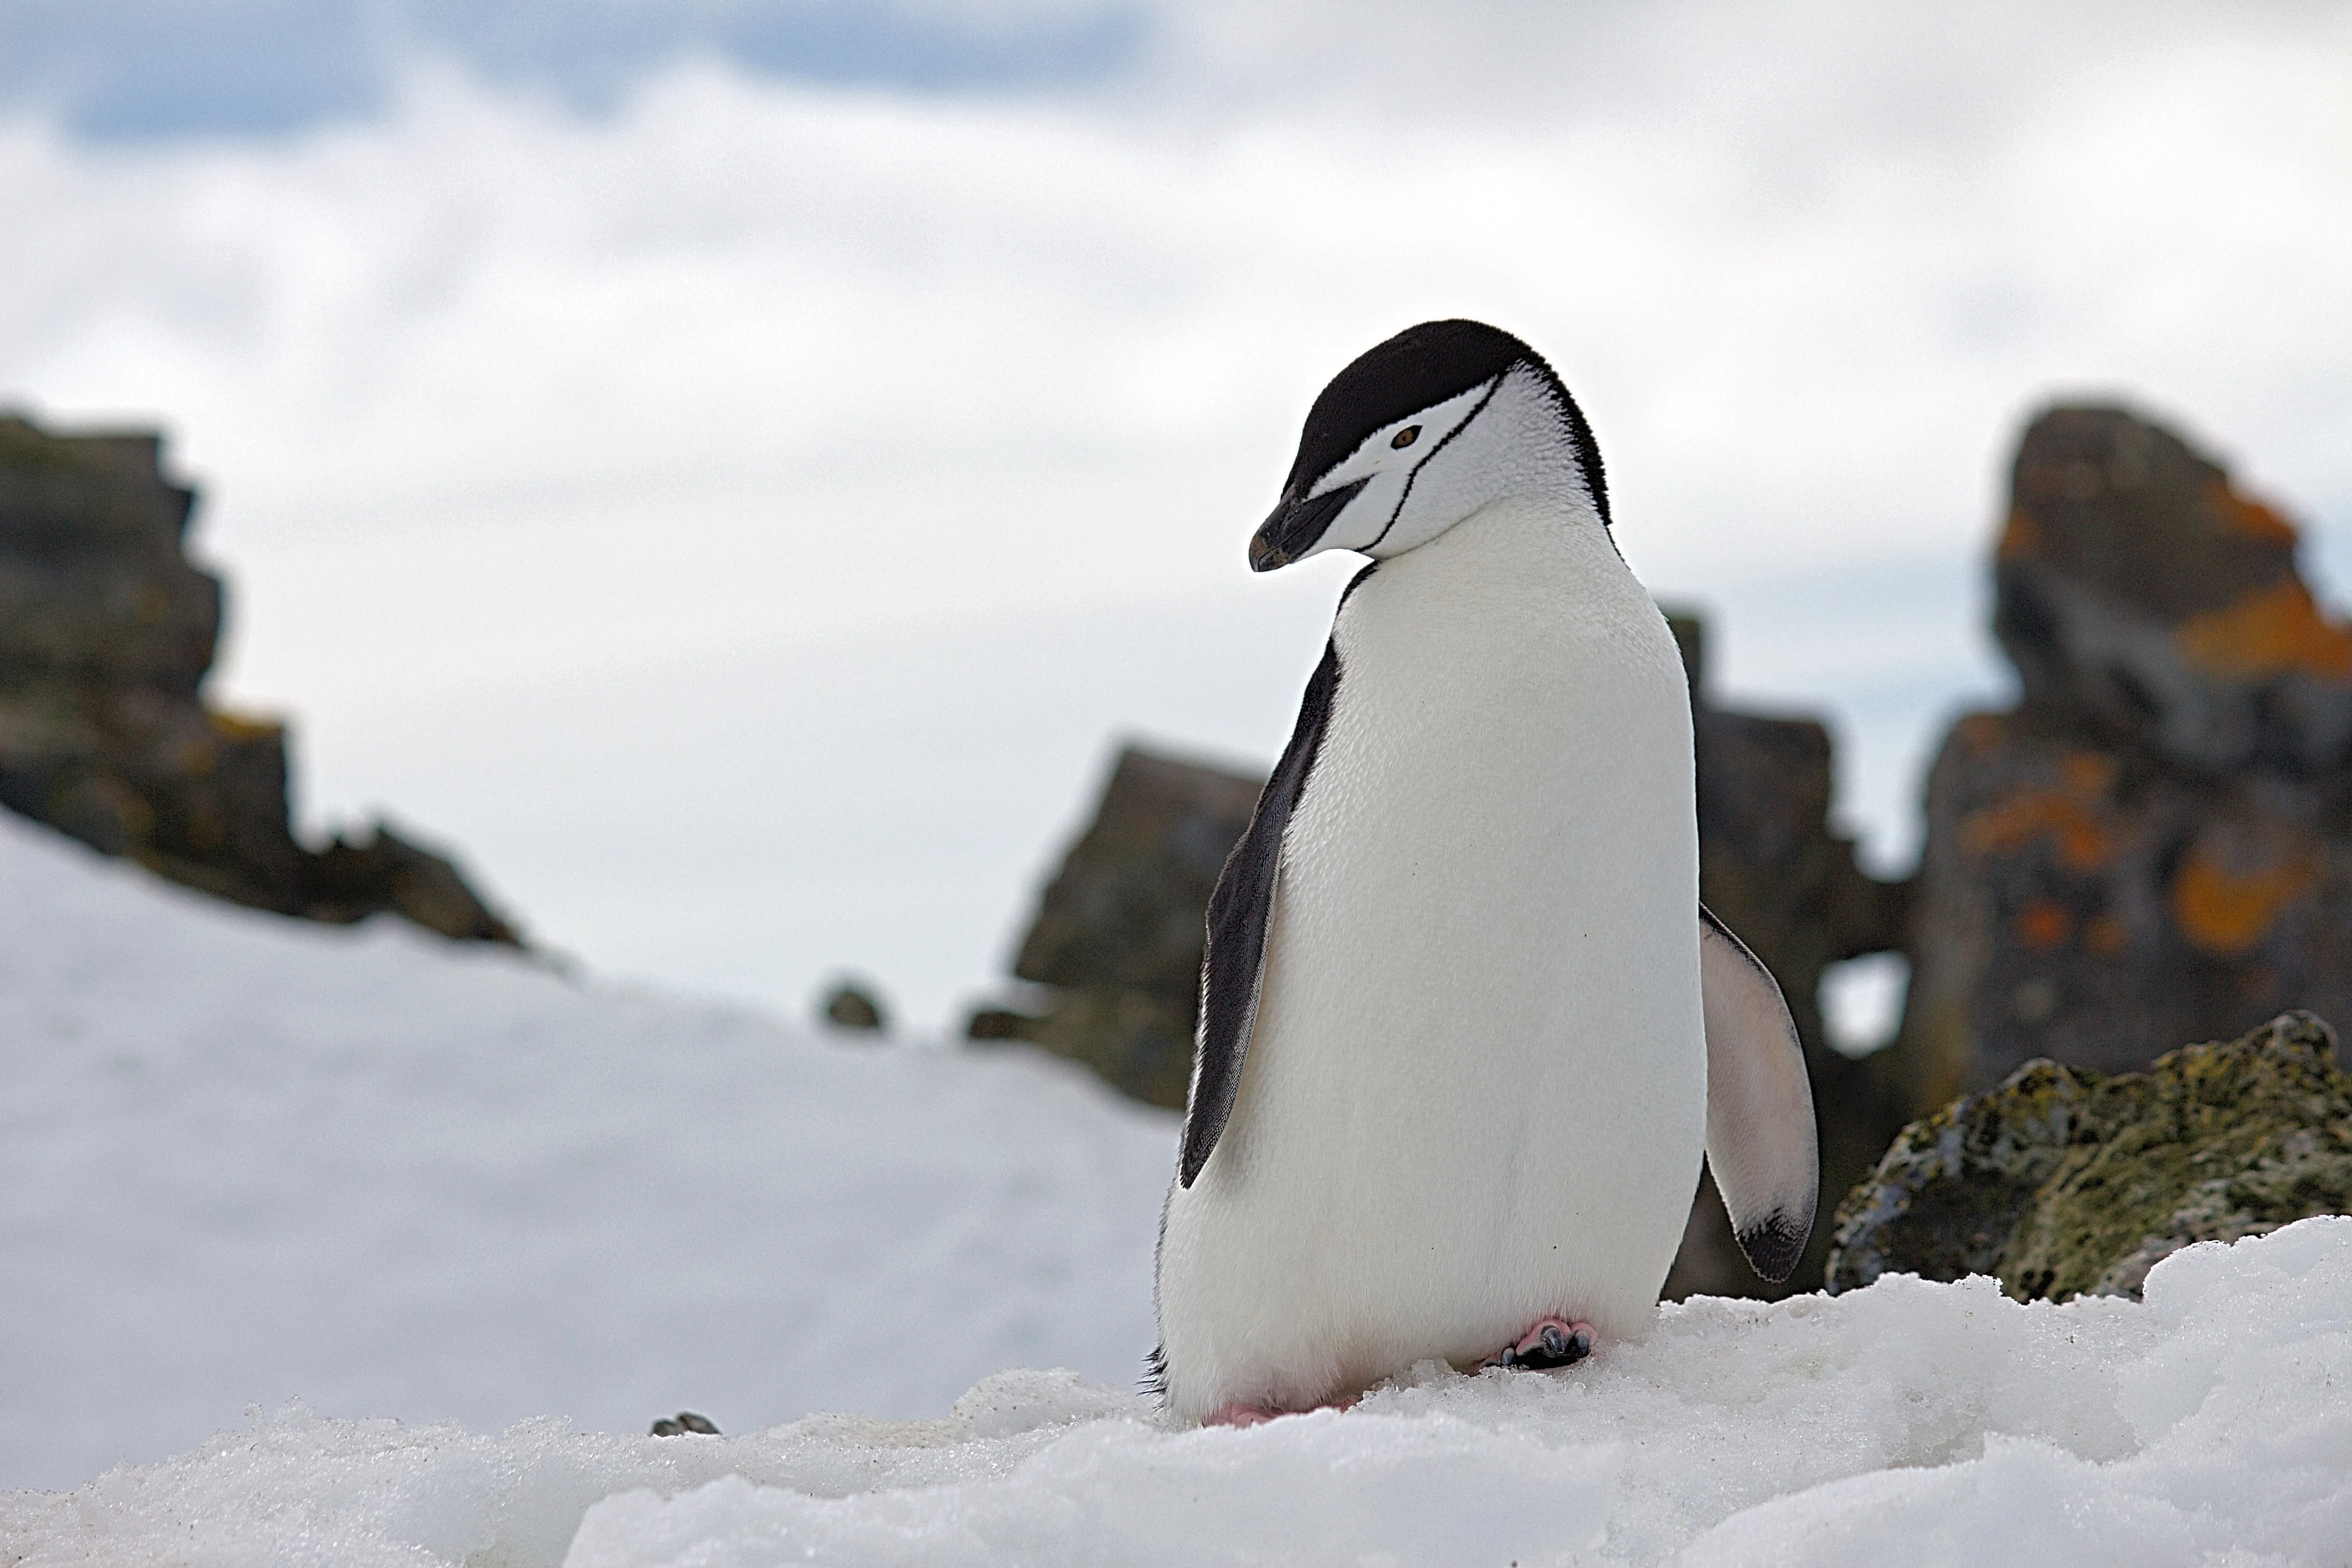
[[[1282,748],[1275,776],[1258,795],[1249,830],[1225,856],[1225,870],[1209,896],[1209,950],[1200,966],[1200,1027],[1192,1034],[1192,1093],[1185,1095],[1183,1164],[1178,1180],[1190,1187],[1209,1164],[1209,1150],[1225,1131],[1232,1095],[1242,1088],[1242,1058],[1258,1020],[1258,980],[1265,973],[1265,933],[1275,919],[1275,872],[1282,865],[1282,832],[1322,748],[1338,691],[1338,646],[1324,644],[1322,663],[1308,677],[1298,724]]]

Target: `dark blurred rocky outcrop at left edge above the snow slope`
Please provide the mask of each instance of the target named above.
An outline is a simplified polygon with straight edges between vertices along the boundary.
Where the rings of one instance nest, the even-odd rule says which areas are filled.
[[[0,806],[242,905],[517,943],[381,823],[325,851],[294,839],[285,729],[202,698],[221,583],[183,555],[195,494],[160,456],[155,435],[0,416]]]

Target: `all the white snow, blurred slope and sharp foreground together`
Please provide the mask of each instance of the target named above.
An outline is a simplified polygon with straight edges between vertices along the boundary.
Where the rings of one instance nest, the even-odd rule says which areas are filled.
[[[1150,1333],[1171,1128],[1044,1065],[259,922],[5,818],[0,1039],[9,1483],[82,1483],[0,1495],[5,1568],[2352,1563],[2352,1220],[2145,1305],[1698,1300],[1174,1432],[1058,1371],[946,1410]],[[637,1436],[680,1403],[746,1434]],[[795,1403],[868,1415],[750,1429]]]

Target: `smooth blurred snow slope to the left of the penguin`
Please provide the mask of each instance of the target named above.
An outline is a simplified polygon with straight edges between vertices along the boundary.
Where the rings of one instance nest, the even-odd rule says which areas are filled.
[[[287,1399],[734,1432],[1127,1382],[1174,1161],[1033,1051],[233,910],[0,813],[0,1486]]]

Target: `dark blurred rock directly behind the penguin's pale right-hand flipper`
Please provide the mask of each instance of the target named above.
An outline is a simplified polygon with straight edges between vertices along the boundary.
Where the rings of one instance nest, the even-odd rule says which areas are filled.
[[[1698,896],[1780,980],[1804,1039],[1820,1126],[1823,1192],[1851,1187],[1903,1126],[1867,1063],[1830,1048],[1820,973],[1839,959],[1900,947],[1907,884],[1877,882],[1853,839],[1830,830],[1830,731],[1809,717],[1717,708],[1705,682],[1705,628],[1670,614],[1691,677],[1698,743]],[[1665,1295],[1790,1295],[1820,1284],[1830,1227],[1816,1225],[1797,1272],[1757,1279],[1731,1237],[1722,1199],[1700,1180]]]

